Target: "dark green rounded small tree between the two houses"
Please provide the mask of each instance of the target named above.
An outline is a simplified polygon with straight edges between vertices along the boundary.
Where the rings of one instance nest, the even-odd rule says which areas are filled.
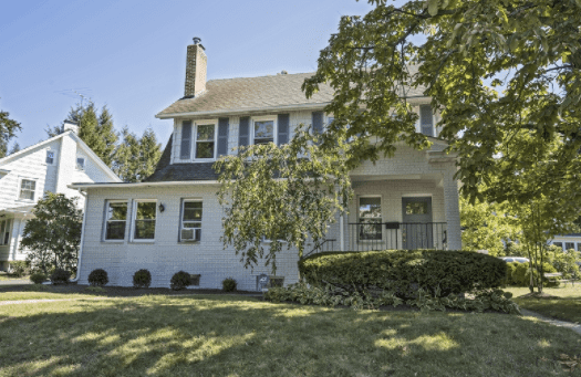
[[[29,250],[27,260],[44,273],[54,266],[75,272],[81,243],[82,211],[76,198],[46,192],[27,221],[20,248]]]

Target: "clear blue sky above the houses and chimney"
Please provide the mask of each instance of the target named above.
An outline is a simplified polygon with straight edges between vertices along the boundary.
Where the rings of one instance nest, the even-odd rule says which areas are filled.
[[[313,72],[341,15],[369,10],[364,0],[4,0],[0,111],[21,123],[20,147],[45,139],[81,96],[106,105],[117,130],[152,127],[165,145],[173,121],[155,114],[184,95],[194,36],[208,80]]]

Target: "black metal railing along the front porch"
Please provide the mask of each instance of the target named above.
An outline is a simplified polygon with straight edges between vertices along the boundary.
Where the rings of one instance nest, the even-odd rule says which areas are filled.
[[[446,222],[349,223],[345,250],[446,249]]]

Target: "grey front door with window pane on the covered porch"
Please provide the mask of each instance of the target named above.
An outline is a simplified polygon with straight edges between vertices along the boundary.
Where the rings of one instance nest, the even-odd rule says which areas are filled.
[[[402,240],[407,250],[432,249],[432,198],[402,198]]]

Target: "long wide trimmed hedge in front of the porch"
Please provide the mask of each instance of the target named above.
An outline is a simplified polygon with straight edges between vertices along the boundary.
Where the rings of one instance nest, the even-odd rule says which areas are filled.
[[[401,299],[418,289],[443,295],[498,287],[506,279],[506,262],[471,251],[386,250],[321,253],[299,262],[308,283],[330,283],[363,292],[380,289]]]

